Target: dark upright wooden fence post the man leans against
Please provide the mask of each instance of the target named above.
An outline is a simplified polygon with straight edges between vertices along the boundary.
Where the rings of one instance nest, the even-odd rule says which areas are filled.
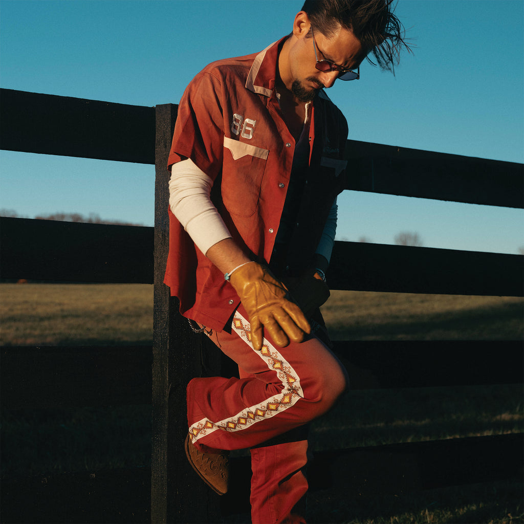
[[[215,495],[191,470],[183,450],[188,431],[185,387],[201,376],[201,341],[163,284],[169,248],[167,159],[177,106],[156,106],[154,339],[152,364],[151,522],[216,522]]]

